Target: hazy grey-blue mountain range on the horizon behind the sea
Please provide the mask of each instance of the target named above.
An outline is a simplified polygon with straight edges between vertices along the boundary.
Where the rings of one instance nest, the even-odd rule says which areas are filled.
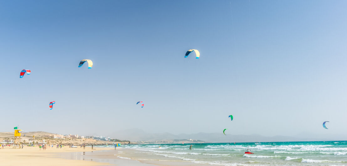
[[[129,129],[114,132],[110,137],[130,140],[130,141],[160,141],[160,140],[172,140],[172,139],[194,139],[202,140],[205,142],[273,142],[273,141],[326,141],[326,140],[336,140],[327,137],[290,137],[290,136],[273,136],[265,137],[258,134],[253,135],[223,135],[223,133],[194,133],[194,134],[179,134],[174,135],[171,133],[147,133],[141,129]],[[336,138],[336,137],[334,137]],[[341,139],[343,140],[343,139]]]

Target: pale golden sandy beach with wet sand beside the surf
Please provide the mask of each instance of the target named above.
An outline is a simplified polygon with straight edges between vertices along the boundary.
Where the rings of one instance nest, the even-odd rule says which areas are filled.
[[[39,147],[24,147],[23,149],[12,149],[5,147],[0,149],[0,163],[2,166],[29,165],[29,166],[106,166],[106,165],[134,165],[134,166],[190,166],[198,165],[190,162],[181,162],[170,160],[170,158],[162,159],[130,159],[141,157],[136,155],[136,150],[104,147],[70,148],[64,146],[62,148],[47,148],[43,150]]]

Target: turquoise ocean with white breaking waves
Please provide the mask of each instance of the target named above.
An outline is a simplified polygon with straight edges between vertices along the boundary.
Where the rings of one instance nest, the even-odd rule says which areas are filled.
[[[192,149],[189,146],[193,145]],[[159,148],[159,146],[161,148]],[[249,147],[254,154],[244,154]],[[121,145],[119,158],[181,160],[209,165],[347,165],[347,141]]]

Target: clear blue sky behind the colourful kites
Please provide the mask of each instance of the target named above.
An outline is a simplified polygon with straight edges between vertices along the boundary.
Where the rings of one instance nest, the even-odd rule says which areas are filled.
[[[346,8],[342,0],[0,1],[1,131],[346,133]],[[192,48],[200,59],[184,58]],[[78,68],[82,59],[93,68]],[[31,75],[19,79],[22,69]]]

